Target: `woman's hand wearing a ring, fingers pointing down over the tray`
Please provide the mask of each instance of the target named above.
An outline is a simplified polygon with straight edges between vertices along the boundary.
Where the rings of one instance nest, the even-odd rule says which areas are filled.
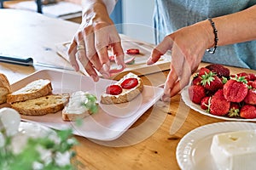
[[[93,3],[84,11],[79,30],[68,48],[68,55],[75,71],[79,71],[79,59],[85,71],[97,82],[99,77],[96,71],[105,78],[110,77],[108,49],[112,49],[116,64],[122,68],[125,68],[124,51],[105,5]]]

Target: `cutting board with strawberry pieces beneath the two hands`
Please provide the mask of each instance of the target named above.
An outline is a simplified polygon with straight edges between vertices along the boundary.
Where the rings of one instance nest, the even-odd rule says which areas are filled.
[[[157,61],[154,65],[146,65],[147,59],[150,57],[152,50],[154,49],[154,44],[148,42],[137,41],[135,39],[131,39],[130,37],[126,37],[125,35],[120,35],[122,47],[124,52],[130,48],[138,48],[140,54],[131,55],[125,54],[125,59],[130,59],[131,57],[135,57],[135,61],[131,65],[126,65],[124,71],[121,71],[115,75],[113,75],[113,79],[118,80],[123,77],[128,72],[136,73],[138,76],[147,75],[154,72],[166,71],[170,69],[171,62],[171,53],[168,51],[166,54],[162,55],[159,61]],[[62,58],[68,59],[67,48],[69,47],[70,42],[62,42],[56,45],[57,53],[61,55]],[[111,55],[111,52],[109,52]],[[88,75],[84,70],[83,66],[79,63],[79,67],[84,75]],[[114,62],[111,62],[111,68],[115,68],[116,65]]]

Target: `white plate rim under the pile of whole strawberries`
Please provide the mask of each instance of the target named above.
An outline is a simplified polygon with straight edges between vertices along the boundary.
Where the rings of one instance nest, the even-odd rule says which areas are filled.
[[[200,105],[196,105],[195,103],[193,103],[190,99],[189,99],[189,90],[188,90],[189,86],[183,88],[183,91],[181,93],[182,95],[182,99],[185,102],[186,105],[188,105],[191,109],[200,112],[203,115],[206,116],[211,116],[214,118],[218,118],[218,119],[222,119],[222,120],[226,120],[226,121],[240,121],[240,122],[256,122],[256,119],[244,119],[241,117],[228,117],[228,116],[215,116],[212,115],[210,113],[207,113],[207,111],[204,111],[201,109]]]

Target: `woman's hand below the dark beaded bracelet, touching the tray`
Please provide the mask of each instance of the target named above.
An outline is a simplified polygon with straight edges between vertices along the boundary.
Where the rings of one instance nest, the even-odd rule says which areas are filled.
[[[172,62],[167,76],[162,100],[168,101],[181,91],[188,83],[191,74],[196,71],[207,48],[214,44],[214,35],[210,23],[205,20],[193,26],[166,36],[154,48],[147,64],[152,65],[167,50],[172,50]]]

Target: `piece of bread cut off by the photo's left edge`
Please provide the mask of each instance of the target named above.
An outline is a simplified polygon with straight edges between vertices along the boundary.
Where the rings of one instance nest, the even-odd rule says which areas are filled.
[[[0,73],[0,104],[3,104],[7,100],[7,95],[11,93],[9,80],[5,75]]]

